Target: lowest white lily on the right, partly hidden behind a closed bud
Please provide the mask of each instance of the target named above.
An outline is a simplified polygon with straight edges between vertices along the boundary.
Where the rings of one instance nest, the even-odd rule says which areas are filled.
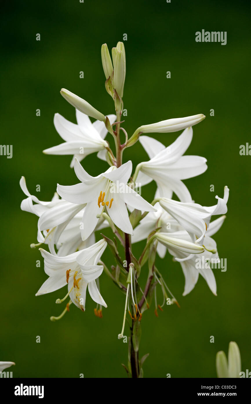
[[[198,259],[201,261],[201,263],[219,262],[216,242],[210,236],[213,236],[220,229],[225,218],[226,216],[221,216],[210,223],[203,242],[205,251],[201,254],[187,254],[185,252],[181,252],[181,250],[177,251],[177,249],[174,250],[173,248],[168,248],[168,252],[173,255],[176,261],[180,262],[183,274],[185,276],[185,288],[183,296],[188,295],[188,293],[193,290],[198,281],[199,274],[201,274],[201,276],[205,279],[212,293],[217,296],[216,280],[211,267],[209,265],[205,265],[205,267],[203,267],[203,265],[197,265],[197,262]],[[172,234],[169,233],[168,236],[191,242],[191,237],[185,230],[175,231]]]

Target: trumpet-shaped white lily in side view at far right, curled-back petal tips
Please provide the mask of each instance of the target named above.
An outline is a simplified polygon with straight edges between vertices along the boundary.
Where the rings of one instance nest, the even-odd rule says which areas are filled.
[[[203,237],[212,215],[222,215],[227,212],[229,189],[224,187],[224,197],[218,199],[217,205],[201,206],[196,203],[178,202],[168,198],[161,198],[160,205],[165,209],[180,225],[187,230],[193,242],[203,242]]]

